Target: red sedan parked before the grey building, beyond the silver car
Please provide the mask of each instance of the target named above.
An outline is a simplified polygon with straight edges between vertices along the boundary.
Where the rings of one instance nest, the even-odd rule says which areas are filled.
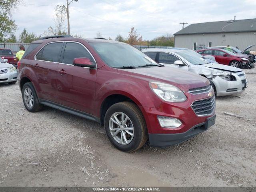
[[[246,66],[248,63],[248,56],[244,54],[234,54],[224,49],[202,49],[196,50],[202,55],[212,55],[215,57],[216,62],[223,65],[230,65],[233,67]]]

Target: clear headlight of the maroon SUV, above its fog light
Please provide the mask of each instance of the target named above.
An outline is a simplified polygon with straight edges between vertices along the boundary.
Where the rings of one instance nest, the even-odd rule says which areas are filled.
[[[176,86],[160,82],[149,82],[149,86],[157,96],[165,101],[184,102],[187,99],[185,94]]]

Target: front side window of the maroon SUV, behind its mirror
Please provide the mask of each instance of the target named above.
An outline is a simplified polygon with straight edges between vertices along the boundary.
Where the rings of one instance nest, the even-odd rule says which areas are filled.
[[[63,63],[73,64],[74,58],[86,57],[90,59],[91,62],[94,62],[94,59],[90,55],[90,53],[80,44],[67,42]]]

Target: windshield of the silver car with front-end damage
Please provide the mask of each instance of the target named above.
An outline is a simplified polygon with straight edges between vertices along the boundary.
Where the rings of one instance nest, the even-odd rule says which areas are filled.
[[[202,55],[192,50],[183,50],[176,53],[182,56],[184,59],[186,59],[188,62],[190,62],[193,65],[203,65],[203,64],[209,63],[208,61],[202,58]]]

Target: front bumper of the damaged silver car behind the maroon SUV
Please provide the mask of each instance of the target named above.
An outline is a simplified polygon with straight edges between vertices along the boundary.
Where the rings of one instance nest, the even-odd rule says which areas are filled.
[[[216,88],[216,96],[226,96],[236,93],[243,92],[248,86],[248,80],[246,76],[240,77],[235,73],[232,73],[232,76],[236,78],[236,81],[227,81],[219,76],[216,76],[212,79],[212,82]]]

